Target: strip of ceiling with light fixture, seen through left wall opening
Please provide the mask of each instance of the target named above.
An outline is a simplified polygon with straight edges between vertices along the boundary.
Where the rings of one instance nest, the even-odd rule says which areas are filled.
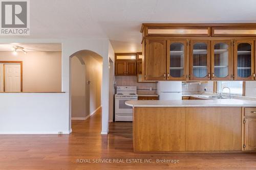
[[[24,47],[26,52],[61,52],[60,43],[10,43],[0,44],[0,52],[13,51],[13,46]]]

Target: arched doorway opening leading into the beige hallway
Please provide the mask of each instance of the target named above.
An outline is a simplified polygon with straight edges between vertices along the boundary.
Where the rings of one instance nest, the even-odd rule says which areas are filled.
[[[102,62],[102,57],[90,50],[78,51],[70,57],[70,111],[73,123],[80,124],[98,114],[98,124],[101,124]],[[100,132],[101,126],[93,129]],[[72,127],[72,131],[81,129]]]

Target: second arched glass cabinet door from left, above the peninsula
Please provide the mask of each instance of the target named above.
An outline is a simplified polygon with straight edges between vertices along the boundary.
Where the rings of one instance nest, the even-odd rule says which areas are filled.
[[[210,40],[190,40],[190,80],[210,80]]]

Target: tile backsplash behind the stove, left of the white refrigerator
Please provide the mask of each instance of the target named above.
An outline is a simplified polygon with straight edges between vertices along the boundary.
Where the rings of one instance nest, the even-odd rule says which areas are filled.
[[[138,83],[137,76],[115,76],[115,78],[116,86],[137,86],[138,94],[156,94],[157,83]]]

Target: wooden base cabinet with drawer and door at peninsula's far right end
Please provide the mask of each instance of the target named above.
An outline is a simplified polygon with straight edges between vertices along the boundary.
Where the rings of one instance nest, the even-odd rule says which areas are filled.
[[[243,150],[256,150],[256,108],[244,108]]]

